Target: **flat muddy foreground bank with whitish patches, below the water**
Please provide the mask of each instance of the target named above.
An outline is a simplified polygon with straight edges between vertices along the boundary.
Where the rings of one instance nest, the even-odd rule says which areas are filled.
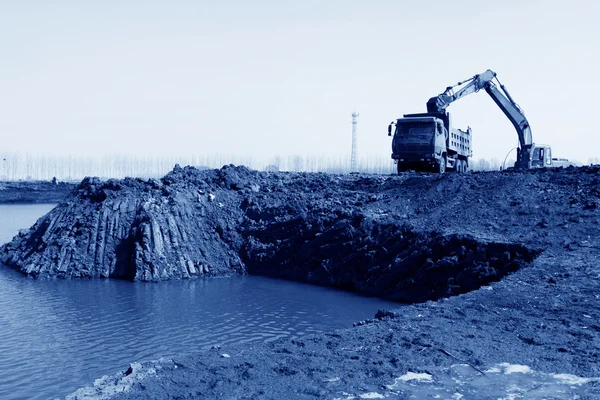
[[[597,311],[573,318],[545,304],[557,293],[567,293],[563,306],[582,300],[570,281],[590,271],[560,278],[556,265],[577,259],[540,257],[477,291],[380,312],[353,328],[135,362],[66,398],[595,398],[600,327],[589,322]],[[540,285],[544,275],[556,283]],[[532,286],[535,299],[515,293]]]

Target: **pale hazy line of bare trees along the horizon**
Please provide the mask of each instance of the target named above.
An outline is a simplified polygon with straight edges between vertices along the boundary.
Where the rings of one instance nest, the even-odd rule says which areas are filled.
[[[507,160],[504,168],[515,160]],[[200,168],[221,168],[223,165],[245,165],[260,171],[327,172],[344,174],[350,170],[349,155],[276,155],[270,159],[251,156],[204,154],[194,156],[125,156],[106,155],[103,157],[51,156],[17,153],[0,153],[0,181],[52,180],[79,181],[86,176],[103,179],[158,178],[173,169],[175,164],[193,165]],[[599,164],[599,158],[589,163]],[[475,159],[471,169],[480,171],[499,170],[503,160]],[[359,157],[357,171],[373,174],[392,174],[396,166],[387,155],[373,154]]]

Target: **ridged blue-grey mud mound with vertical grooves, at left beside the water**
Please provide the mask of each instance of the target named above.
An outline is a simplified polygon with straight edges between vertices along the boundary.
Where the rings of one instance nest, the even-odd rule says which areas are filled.
[[[195,180],[200,172],[190,171],[177,168],[160,181],[86,178],[5,245],[1,260],[34,277],[158,281],[243,272],[220,239],[241,217],[239,199],[218,173]]]

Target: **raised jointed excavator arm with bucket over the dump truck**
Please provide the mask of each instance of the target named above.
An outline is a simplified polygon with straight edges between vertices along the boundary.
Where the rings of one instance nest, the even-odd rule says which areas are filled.
[[[494,79],[498,82],[500,89],[498,89],[498,86],[494,83]],[[459,86],[460,88],[455,89]],[[492,100],[500,107],[504,115],[506,115],[517,130],[520,149],[517,152],[517,162],[515,167],[518,169],[530,168],[533,138],[531,136],[529,122],[527,121],[523,110],[515,103],[504,85],[500,83],[494,71],[488,69],[482,74],[458,82],[455,86],[447,87],[444,93],[432,97],[427,101],[427,112],[445,114],[446,108],[451,103],[471,93],[476,93],[481,89],[484,89],[487,94],[490,95]]]

